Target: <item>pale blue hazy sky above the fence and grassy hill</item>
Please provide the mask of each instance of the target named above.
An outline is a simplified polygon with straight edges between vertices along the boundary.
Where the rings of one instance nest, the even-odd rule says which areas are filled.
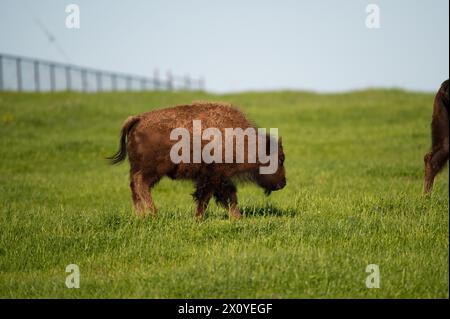
[[[79,29],[65,24],[72,3]],[[368,4],[380,28],[366,26]],[[449,1],[0,0],[0,52],[144,76],[170,70],[220,93],[431,92],[449,77]]]

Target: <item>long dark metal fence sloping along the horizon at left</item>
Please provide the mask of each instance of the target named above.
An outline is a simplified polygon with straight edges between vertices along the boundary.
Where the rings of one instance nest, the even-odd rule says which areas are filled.
[[[203,79],[174,76],[171,72],[163,79],[158,70],[152,77],[145,77],[0,53],[0,91],[204,90],[204,87]]]

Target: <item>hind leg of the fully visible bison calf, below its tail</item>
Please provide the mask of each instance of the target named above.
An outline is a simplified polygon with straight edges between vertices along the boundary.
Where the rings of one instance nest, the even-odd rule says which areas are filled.
[[[150,195],[150,187],[154,182],[145,179],[141,172],[131,174],[131,196],[133,198],[134,208],[138,216],[145,216],[147,211],[156,216],[156,208]]]

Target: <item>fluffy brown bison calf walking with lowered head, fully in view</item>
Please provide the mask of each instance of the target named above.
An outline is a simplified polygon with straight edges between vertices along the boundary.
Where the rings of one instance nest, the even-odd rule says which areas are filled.
[[[119,151],[110,157],[112,164],[123,161],[128,153],[130,162],[130,187],[132,199],[138,215],[149,211],[156,215],[150,189],[164,176],[171,179],[187,179],[195,182],[193,194],[197,202],[197,217],[202,217],[211,197],[229,209],[231,217],[241,216],[237,207],[234,177],[245,177],[261,186],[267,194],[281,189],[286,184],[284,171],[284,153],[281,141],[278,145],[278,168],[272,174],[261,174],[261,161],[236,161],[236,150],[232,163],[200,161],[174,163],[171,149],[177,141],[172,140],[171,132],[176,128],[185,128],[193,139],[193,121],[201,121],[202,127],[217,128],[223,133],[226,128],[254,128],[246,117],[235,108],[218,103],[193,103],[167,109],[155,110],[137,116],[130,116],[122,127]],[[246,140],[248,143],[248,139]],[[270,152],[267,136],[265,152]],[[201,145],[207,141],[202,140]],[[246,144],[247,145],[247,144]],[[247,145],[248,146],[248,145]],[[237,147],[236,147],[237,148]],[[275,152],[273,152],[275,154]],[[190,150],[192,158],[192,148]]]

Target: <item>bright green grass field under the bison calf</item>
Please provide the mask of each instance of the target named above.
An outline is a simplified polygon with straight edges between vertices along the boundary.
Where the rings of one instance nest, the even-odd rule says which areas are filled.
[[[238,187],[244,218],[195,222],[164,179],[156,219],[132,211],[128,164],[108,166],[131,114],[215,100],[278,127],[288,185]],[[433,95],[368,90],[0,94],[2,298],[448,298],[448,169],[422,198]],[[81,271],[65,286],[65,267]],[[381,287],[368,289],[368,264]]]

